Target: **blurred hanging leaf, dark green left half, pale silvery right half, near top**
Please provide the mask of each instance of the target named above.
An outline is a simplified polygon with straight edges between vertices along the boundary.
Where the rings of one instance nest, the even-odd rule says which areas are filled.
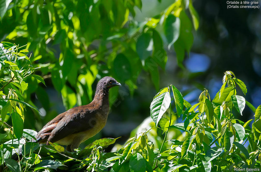
[[[180,35],[180,19],[170,14],[165,20],[164,33],[168,41],[168,49]]]

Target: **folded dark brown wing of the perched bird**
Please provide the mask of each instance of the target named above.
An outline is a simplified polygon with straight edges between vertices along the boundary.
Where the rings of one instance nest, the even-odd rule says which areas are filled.
[[[70,134],[76,134],[91,129],[97,121],[95,114],[96,111],[92,109],[83,109],[81,107],[75,107],[68,110],[68,113],[65,114],[50,132],[48,141],[54,143]]]

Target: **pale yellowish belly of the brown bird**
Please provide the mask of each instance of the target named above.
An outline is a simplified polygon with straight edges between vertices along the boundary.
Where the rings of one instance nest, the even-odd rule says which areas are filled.
[[[80,133],[77,134],[71,134],[68,135],[67,137],[64,137],[61,140],[58,140],[56,143],[58,143],[59,145],[71,145],[73,140],[75,140],[76,138],[79,139],[80,138],[80,142],[84,142],[85,140],[93,137],[94,135],[96,135],[97,133],[99,133],[100,130],[103,129],[103,127],[106,124],[107,121],[107,117],[100,117],[100,119],[98,120],[99,122],[97,122],[96,125],[94,125],[93,128],[87,130],[87,131],[82,131]]]

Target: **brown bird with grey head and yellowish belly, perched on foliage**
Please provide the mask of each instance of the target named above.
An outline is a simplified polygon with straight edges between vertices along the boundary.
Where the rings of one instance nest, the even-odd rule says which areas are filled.
[[[67,145],[67,151],[74,151],[105,126],[109,114],[109,89],[117,85],[121,86],[112,77],[100,79],[90,104],[59,114],[38,132],[36,141],[46,145],[49,145],[49,142]],[[16,159],[16,156],[17,154],[13,154],[12,158]]]

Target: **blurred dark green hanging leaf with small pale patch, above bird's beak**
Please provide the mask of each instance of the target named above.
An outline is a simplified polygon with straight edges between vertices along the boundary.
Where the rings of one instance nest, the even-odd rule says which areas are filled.
[[[142,33],[137,40],[136,51],[144,66],[145,60],[152,54],[153,40],[150,33]]]

